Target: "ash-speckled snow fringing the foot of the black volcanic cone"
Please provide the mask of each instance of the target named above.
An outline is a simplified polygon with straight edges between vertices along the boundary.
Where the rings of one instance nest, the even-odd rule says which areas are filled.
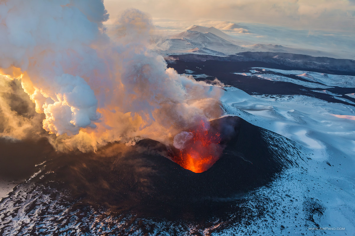
[[[268,140],[274,152],[289,150],[289,155],[286,156],[289,160],[285,161],[299,162],[297,166],[302,165],[300,171],[303,171],[303,166],[307,166],[308,159],[297,157],[300,152],[310,156],[307,149],[267,130],[263,131],[263,138]],[[4,198],[0,203],[1,235],[228,235],[235,230],[240,233],[253,232],[255,228],[250,226],[255,221],[267,219],[268,212],[290,208],[280,202],[280,199],[287,199],[287,196],[282,193],[275,198],[262,195],[262,187],[244,196],[216,198],[214,201],[231,205],[235,211],[226,213],[223,218],[210,218],[205,223],[194,220],[171,221],[161,219],[159,215],[154,218],[138,217],[110,211],[104,206],[92,207],[80,198],[70,198],[68,192],[57,189],[55,185],[50,187],[50,184],[39,184],[38,179],[36,180],[39,175],[48,173],[39,171],[31,180],[18,185],[10,197]],[[267,188],[271,186],[268,185]],[[301,197],[299,201],[303,202]],[[300,224],[313,225],[302,216],[303,214],[300,216]],[[294,222],[288,215],[282,214],[273,219],[273,224],[277,224],[279,219]],[[268,232],[273,226],[271,223],[267,227],[261,225],[259,231]]]

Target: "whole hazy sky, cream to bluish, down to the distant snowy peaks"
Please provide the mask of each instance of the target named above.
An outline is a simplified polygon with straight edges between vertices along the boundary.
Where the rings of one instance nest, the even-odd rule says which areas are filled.
[[[119,2],[119,4],[118,4]],[[127,8],[151,17],[153,34],[169,37],[192,25],[215,27],[234,38],[237,45],[272,44],[319,50],[334,58],[355,59],[355,1],[174,1],[105,0],[114,27]],[[336,20],[334,20],[336,19]],[[306,53],[307,54],[307,53]]]

